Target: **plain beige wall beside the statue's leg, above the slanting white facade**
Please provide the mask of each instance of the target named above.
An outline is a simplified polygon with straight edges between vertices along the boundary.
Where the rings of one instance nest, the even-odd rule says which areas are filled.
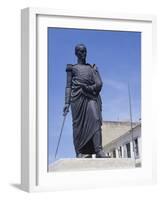
[[[133,122],[132,127],[134,128],[140,124],[139,122]],[[131,122],[129,121],[103,121],[102,124],[102,145],[116,140],[123,136],[131,129]]]

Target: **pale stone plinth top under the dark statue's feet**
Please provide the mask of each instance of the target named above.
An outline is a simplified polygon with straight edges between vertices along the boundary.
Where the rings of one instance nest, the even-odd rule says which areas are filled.
[[[49,172],[135,168],[131,158],[68,158],[49,165]]]

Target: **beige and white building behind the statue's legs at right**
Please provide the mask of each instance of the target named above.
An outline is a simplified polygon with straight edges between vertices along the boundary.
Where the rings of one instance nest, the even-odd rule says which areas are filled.
[[[104,151],[112,158],[141,159],[141,123],[110,122],[102,125]]]

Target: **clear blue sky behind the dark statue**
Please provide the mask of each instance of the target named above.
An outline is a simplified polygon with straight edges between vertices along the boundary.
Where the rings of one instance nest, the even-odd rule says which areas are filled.
[[[48,162],[54,161],[63,121],[66,65],[77,62],[74,48],[87,47],[87,62],[99,68],[103,88],[103,120],[129,120],[128,83],[133,121],[141,117],[141,33],[48,28]],[[57,159],[75,157],[71,112]]]

